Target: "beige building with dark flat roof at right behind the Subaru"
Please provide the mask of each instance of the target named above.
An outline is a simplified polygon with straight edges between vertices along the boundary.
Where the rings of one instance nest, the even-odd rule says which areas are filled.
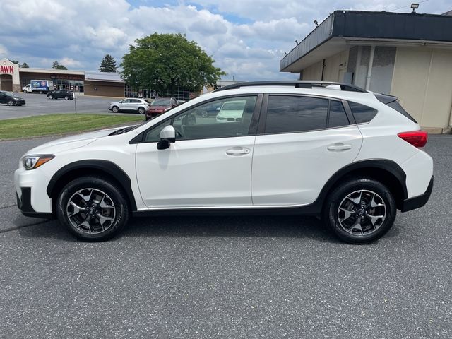
[[[334,11],[281,59],[280,71],[396,95],[424,128],[451,130],[452,16],[447,13]]]

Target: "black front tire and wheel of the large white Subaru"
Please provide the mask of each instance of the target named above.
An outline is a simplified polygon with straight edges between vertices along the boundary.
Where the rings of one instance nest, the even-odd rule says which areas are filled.
[[[129,220],[123,190],[102,177],[80,177],[66,184],[57,199],[57,216],[78,239],[102,242],[111,239]]]

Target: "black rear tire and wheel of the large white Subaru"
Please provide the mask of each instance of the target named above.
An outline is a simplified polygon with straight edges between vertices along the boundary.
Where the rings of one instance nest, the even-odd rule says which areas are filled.
[[[323,220],[351,244],[367,244],[383,237],[396,220],[396,201],[389,189],[369,178],[348,179],[331,191]]]

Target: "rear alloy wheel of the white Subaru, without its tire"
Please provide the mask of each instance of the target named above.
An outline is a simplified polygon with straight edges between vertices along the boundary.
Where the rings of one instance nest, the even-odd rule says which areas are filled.
[[[359,190],[348,194],[338,207],[340,227],[353,235],[368,235],[386,220],[386,204],[374,191]]]

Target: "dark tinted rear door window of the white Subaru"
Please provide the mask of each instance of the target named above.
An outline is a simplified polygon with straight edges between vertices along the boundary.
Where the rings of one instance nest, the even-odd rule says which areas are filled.
[[[266,133],[312,131],[326,128],[328,100],[317,97],[270,95]]]

